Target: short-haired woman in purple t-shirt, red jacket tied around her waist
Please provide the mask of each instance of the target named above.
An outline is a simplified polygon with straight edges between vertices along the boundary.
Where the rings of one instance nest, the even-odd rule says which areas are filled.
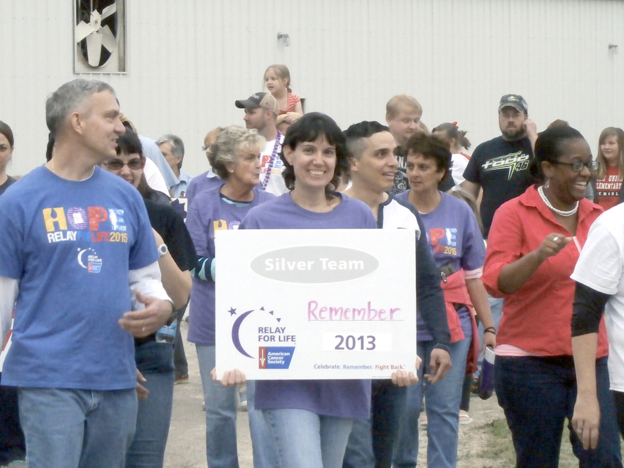
[[[422,397],[427,411],[427,465],[454,467],[457,464],[459,406],[466,374],[476,370],[479,336],[472,308],[485,328],[484,344],[494,347],[494,321],[487,293],[480,279],[485,261],[485,245],[474,213],[463,200],[439,189],[451,170],[451,151],[446,142],[418,133],[407,140],[406,173],[410,189],[396,196],[411,203],[421,213],[425,233],[444,291],[451,331],[449,353],[453,364],[444,379],[418,384],[408,389],[406,414],[402,420],[399,444],[394,452],[396,466],[416,464],[418,454],[417,421]],[[429,356],[434,341],[419,328],[417,354],[429,373]]]

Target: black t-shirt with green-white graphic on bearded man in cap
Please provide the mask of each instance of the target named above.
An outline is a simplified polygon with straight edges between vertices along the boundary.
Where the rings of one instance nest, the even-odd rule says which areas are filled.
[[[485,238],[500,205],[522,195],[534,182],[529,171],[532,158],[527,137],[514,142],[496,137],[483,142],[472,153],[464,178],[483,188],[481,220]]]

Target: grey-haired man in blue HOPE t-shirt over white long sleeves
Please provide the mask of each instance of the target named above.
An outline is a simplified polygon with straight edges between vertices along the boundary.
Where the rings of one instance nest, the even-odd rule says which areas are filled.
[[[124,133],[110,85],[46,102],[51,160],[0,200],[2,384],[19,392],[29,466],[125,466],[137,415],[134,337],[172,316],[137,190],[97,164]]]

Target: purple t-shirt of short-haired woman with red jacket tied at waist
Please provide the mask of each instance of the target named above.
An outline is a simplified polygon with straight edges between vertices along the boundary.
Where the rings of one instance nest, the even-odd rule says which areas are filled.
[[[399,193],[396,198],[409,203],[411,190]],[[442,199],[431,213],[420,213],[425,225],[427,243],[436,266],[452,263],[458,271],[477,270],[485,263],[485,243],[477,224],[477,218],[463,200],[440,192]],[[471,312],[466,307],[457,311],[464,336],[472,336]]]

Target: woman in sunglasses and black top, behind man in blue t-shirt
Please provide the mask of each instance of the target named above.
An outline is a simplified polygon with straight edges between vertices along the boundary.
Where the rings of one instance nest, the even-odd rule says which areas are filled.
[[[173,301],[173,309],[177,311],[187,305],[191,289],[189,271],[195,265],[197,255],[180,214],[170,203],[151,199],[160,192],[147,185],[144,166],[145,157],[139,137],[130,129],[117,139],[117,157],[102,163],[102,167],[131,183],[141,193],[160,254],[158,266],[162,284]],[[123,213],[112,215],[123,217]],[[170,324],[175,316],[173,313]],[[139,400],[137,427],[128,449],[126,468],[163,466],[173,405],[174,334],[172,326],[164,326],[150,336],[135,338],[135,362],[145,382],[139,392],[142,398]]]

